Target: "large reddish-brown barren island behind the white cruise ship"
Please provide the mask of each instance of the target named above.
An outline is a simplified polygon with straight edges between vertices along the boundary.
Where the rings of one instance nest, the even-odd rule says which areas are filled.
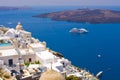
[[[102,9],[77,9],[61,12],[39,14],[34,17],[51,18],[70,22],[120,23],[120,11]]]

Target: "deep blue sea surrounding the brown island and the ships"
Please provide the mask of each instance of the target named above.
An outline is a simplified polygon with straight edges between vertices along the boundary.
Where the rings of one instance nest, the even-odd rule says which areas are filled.
[[[79,8],[85,7],[46,6],[30,10],[0,11],[0,25],[15,28],[20,21],[23,28],[30,31],[33,37],[46,41],[47,47],[62,53],[73,65],[89,70],[94,75],[101,70],[104,71],[101,80],[120,80],[120,23],[89,24],[32,17],[42,13]],[[120,10],[120,7],[97,8]],[[89,33],[69,33],[74,27],[86,28]]]

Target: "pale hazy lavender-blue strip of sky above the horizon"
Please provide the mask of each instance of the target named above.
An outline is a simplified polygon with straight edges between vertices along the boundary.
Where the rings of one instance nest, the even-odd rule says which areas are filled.
[[[120,6],[120,0],[0,0],[0,6]]]

